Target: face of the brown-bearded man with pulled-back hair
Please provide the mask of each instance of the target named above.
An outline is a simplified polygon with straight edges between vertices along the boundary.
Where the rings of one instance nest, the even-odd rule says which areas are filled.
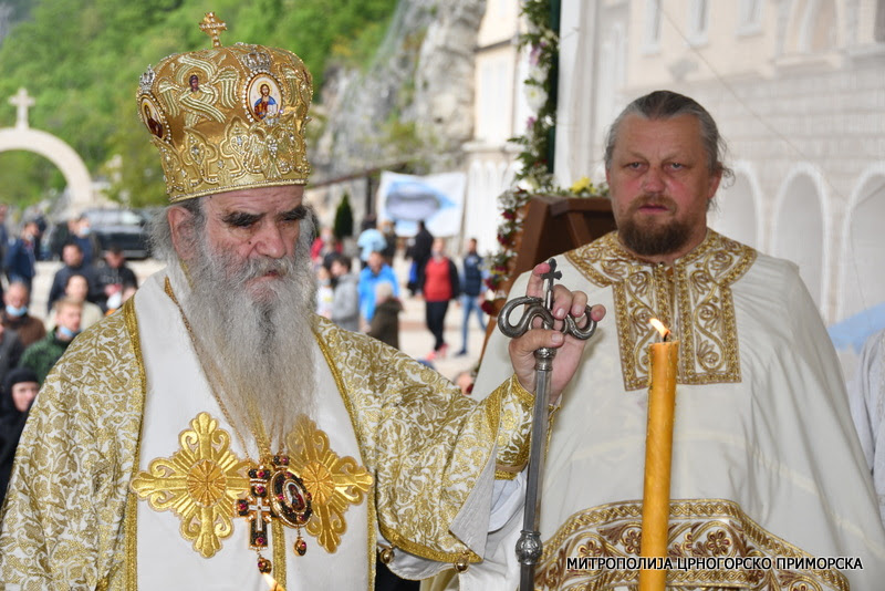
[[[721,179],[707,163],[697,117],[625,117],[605,174],[624,246],[667,263],[698,246]]]

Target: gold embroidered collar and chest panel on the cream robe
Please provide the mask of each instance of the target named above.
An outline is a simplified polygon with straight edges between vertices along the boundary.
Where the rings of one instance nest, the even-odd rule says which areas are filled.
[[[756,260],[756,250],[712,230],[671,267],[628,252],[611,232],[568,252],[589,281],[611,287],[625,390],[648,385],[648,345],[657,318],[681,341],[680,384],[740,382],[738,333],[731,284]]]

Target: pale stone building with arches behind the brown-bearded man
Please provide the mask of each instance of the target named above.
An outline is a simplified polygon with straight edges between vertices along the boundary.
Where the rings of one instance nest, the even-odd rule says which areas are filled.
[[[632,98],[688,94],[719,123],[736,174],[712,227],[796,262],[829,324],[885,302],[885,2],[561,8],[561,184],[602,178],[605,126]]]

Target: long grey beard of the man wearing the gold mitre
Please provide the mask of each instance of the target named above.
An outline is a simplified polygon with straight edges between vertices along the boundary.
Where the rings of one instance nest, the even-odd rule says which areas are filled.
[[[299,240],[294,258],[244,262],[227,252],[212,252],[204,239],[196,242],[197,253],[187,262],[185,279],[190,289],[177,296],[197,355],[246,445],[252,445],[250,434],[260,422],[271,452],[277,453],[283,449],[296,417],[310,415],[314,405],[316,284],[306,241]],[[170,266],[180,273],[176,267]],[[279,277],[248,284],[270,271]]]

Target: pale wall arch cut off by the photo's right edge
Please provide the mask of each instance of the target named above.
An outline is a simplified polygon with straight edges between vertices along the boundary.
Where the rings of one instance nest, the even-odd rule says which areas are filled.
[[[837,320],[885,302],[885,162],[870,165],[858,178],[842,225]]]

